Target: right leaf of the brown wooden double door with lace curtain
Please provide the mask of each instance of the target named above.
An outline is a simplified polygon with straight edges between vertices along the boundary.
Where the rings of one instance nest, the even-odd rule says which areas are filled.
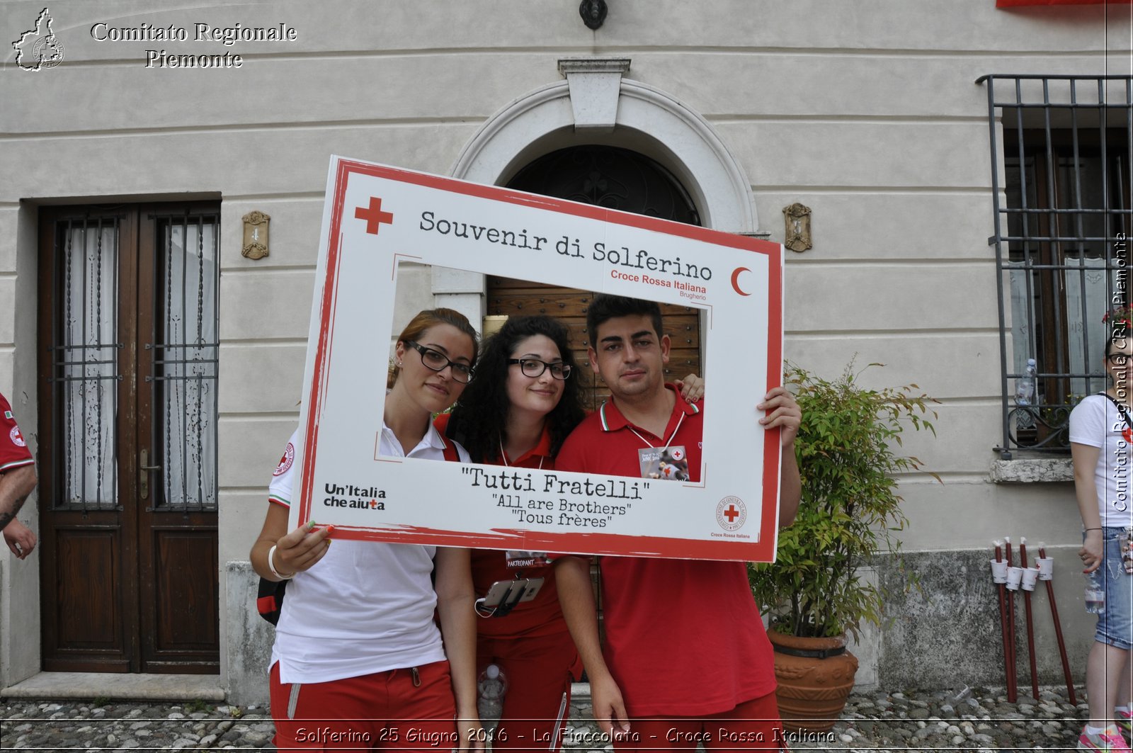
[[[154,208],[138,265],[154,302],[138,316],[138,452],[143,671],[220,671],[214,310],[219,215]],[[207,270],[207,271],[206,271]],[[199,304],[199,305],[198,305]],[[212,304],[212,305],[211,305]],[[144,406],[144,407],[142,407]],[[207,445],[207,447],[206,447]],[[208,468],[212,468],[210,473]],[[140,484],[142,476],[138,476]]]

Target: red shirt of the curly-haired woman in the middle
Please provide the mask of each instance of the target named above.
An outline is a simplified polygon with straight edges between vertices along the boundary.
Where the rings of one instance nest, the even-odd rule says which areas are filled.
[[[442,413],[433,423],[437,431],[444,434],[444,430],[449,425],[449,414]],[[505,464],[502,459],[497,459],[489,465]],[[544,426],[539,442],[514,460],[509,459],[506,465],[513,468],[542,467],[544,471],[553,471],[555,459],[551,457],[551,431]],[[508,638],[568,632],[566,621],[559,607],[559,590],[555,587],[555,574],[552,568],[550,566],[525,567],[521,572],[522,577],[544,578],[538,595],[531,601],[516,604],[516,608],[504,617],[477,619],[477,635]],[[516,577],[516,573],[517,570],[508,567],[508,558],[504,552],[494,549],[472,550],[472,585],[478,597],[487,593],[496,581],[512,579]]]

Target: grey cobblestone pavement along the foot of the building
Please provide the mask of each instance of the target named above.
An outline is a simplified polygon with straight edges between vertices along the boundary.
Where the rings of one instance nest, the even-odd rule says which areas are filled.
[[[829,733],[790,736],[794,750],[1073,750],[1085,717],[1083,693],[1040,688],[1038,701],[1007,703],[1002,689],[884,692],[850,697]],[[605,751],[588,699],[573,704],[565,745]],[[12,700],[0,704],[0,748],[24,751],[274,750],[266,709],[201,702],[129,703]]]

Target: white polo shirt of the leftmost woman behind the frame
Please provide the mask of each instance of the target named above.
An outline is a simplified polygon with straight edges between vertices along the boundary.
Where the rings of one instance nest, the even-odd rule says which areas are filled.
[[[444,441],[429,424],[408,457],[444,460]],[[404,456],[384,423],[378,449]],[[290,507],[293,458],[301,451],[296,432],[269,487],[272,504]],[[461,463],[468,463],[465,448],[457,445],[457,451]],[[335,541],[323,559],[287,586],[272,646],[280,680],[325,683],[444,659],[433,621],[435,552],[436,547]]]

